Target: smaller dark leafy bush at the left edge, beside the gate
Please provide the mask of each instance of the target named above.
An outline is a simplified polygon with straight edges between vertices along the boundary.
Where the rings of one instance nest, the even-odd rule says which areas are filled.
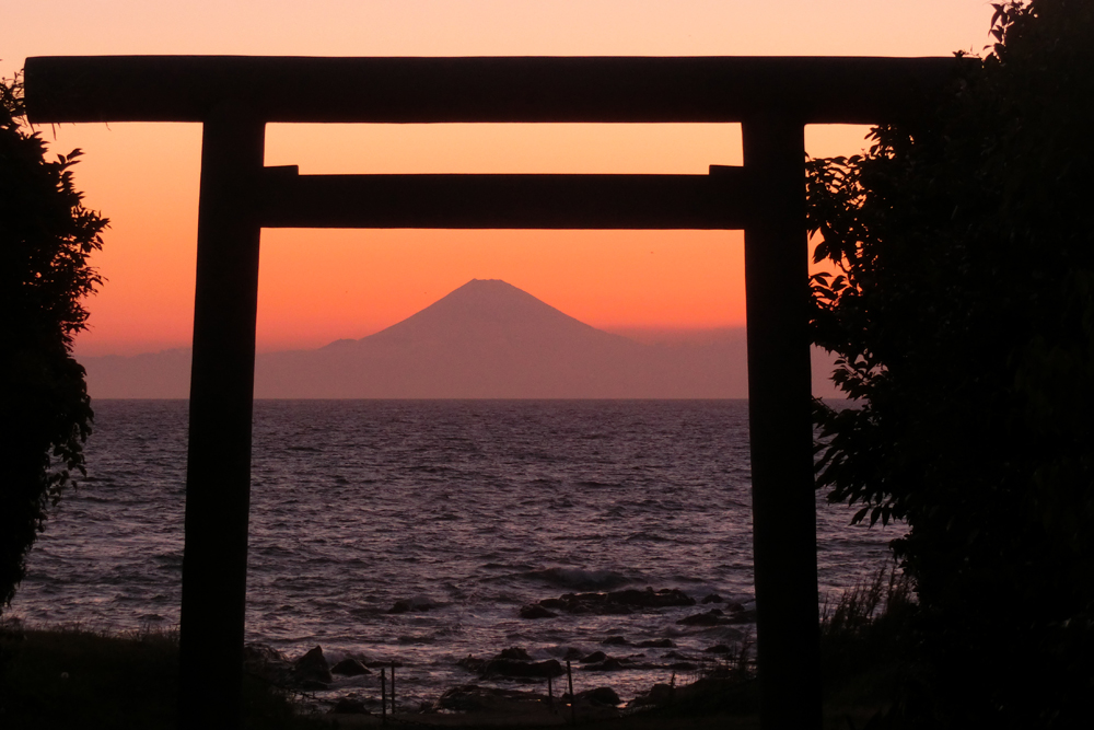
[[[80,150],[47,160],[24,124],[22,84],[0,81],[0,611],[73,472],[92,410],[72,337],[101,279],[88,257],[107,220],[73,186]]]

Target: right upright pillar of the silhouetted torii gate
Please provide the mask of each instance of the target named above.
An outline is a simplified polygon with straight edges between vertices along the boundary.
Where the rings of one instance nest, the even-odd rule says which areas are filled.
[[[760,722],[822,727],[804,124],[742,124]]]

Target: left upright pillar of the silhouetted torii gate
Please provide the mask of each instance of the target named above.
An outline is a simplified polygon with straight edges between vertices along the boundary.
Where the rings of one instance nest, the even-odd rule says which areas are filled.
[[[179,618],[179,727],[242,723],[251,420],[265,124],[222,104],[205,120]]]

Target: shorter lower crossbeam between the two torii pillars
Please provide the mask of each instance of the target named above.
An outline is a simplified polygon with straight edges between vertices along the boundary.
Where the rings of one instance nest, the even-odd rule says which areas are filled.
[[[711,175],[295,175],[269,167],[265,228],[744,228],[743,167]]]

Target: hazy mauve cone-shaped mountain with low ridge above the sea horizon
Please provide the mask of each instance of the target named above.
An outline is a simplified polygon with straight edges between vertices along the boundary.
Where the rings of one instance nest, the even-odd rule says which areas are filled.
[[[81,360],[93,397],[188,397],[189,351]],[[397,324],[259,355],[259,398],[743,398],[744,331],[642,345],[498,279],[473,279]]]

